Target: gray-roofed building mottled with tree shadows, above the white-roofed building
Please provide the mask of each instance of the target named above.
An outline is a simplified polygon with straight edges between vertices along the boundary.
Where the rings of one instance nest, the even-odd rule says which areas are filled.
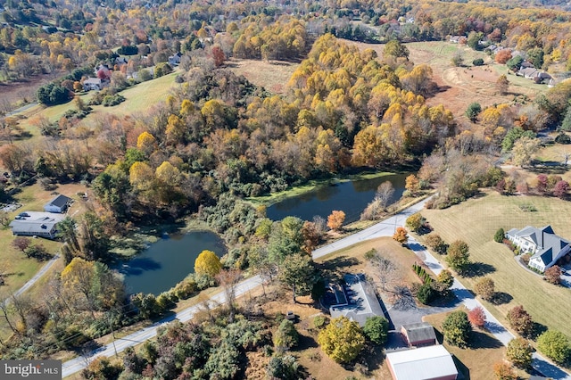
[[[359,325],[365,326],[367,318],[384,316],[377,294],[368,284],[365,275],[346,274],[343,276],[343,296],[336,295],[338,301],[343,302],[329,308],[332,318],[347,317]]]

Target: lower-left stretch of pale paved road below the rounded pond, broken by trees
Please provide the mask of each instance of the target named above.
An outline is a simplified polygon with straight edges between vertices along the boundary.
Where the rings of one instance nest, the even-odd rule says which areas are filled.
[[[236,286],[236,297],[244,295],[250,292],[252,289],[257,288],[261,285],[261,278],[259,276],[251,277],[239,285]],[[211,297],[211,306],[216,306],[219,304],[223,304],[226,302],[226,295],[224,292],[216,293]],[[125,350],[127,347],[134,346],[138,343],[143,343],[148,339],[153,338],[157,335],[157,328],[163,326],[175,319],[180,320],[181,322],[189,321],[194,317],[194,314],[200,309],[199,305],[191,306],[185,310],[180,311],[176,315],[163,318],[160,321],[154,323],[151,326],[145,327],[142,330],[137,331],[131,335],[124,336],[120,339],[117,339],[114,344],[110,343],[104,345],[103,347],[98,348],[95,351],[92,351],[88,357],[80,356],[75,359],[71,359],[66,361],[62,365],[62,377],[71,376],[76,372],[79,372],[83,368],[87,367],[87,364],[92,360],[100,356],[111,357],[115,354],[115,351],[121,352]]]

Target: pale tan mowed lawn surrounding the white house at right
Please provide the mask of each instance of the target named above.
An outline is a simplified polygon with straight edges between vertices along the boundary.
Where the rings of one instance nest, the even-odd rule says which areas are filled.
[[[537,211],[522,211],[521,205],[532,205]],[[542,227],[548,224],[556,234],[569,239],[571,202],[550,197],[502,196],[486,191],[482,197],[449,209],[424,210],[421,213],[434,228],[434,233],[441,235],[446,243],[461,239],[468,243],[472,261],[492,266],[488,276],[492,277],[496,291],[513,297],[500,305],[484,302],[501,323],[508,326],[505,318],[508,310],[521,304],[535,322],[571,337],[571,325],[568,323],[571,289],[543,281],[541,276],[522,268],[508,247],[493,241],[493,235],[500,227],[508,231],[513,227]],[[423,236],[420,236],[420,240],[423,240]],[[440,260],[443,259],[441,256]],[[460,278],[470,289],[477,280],[478,277]]]

